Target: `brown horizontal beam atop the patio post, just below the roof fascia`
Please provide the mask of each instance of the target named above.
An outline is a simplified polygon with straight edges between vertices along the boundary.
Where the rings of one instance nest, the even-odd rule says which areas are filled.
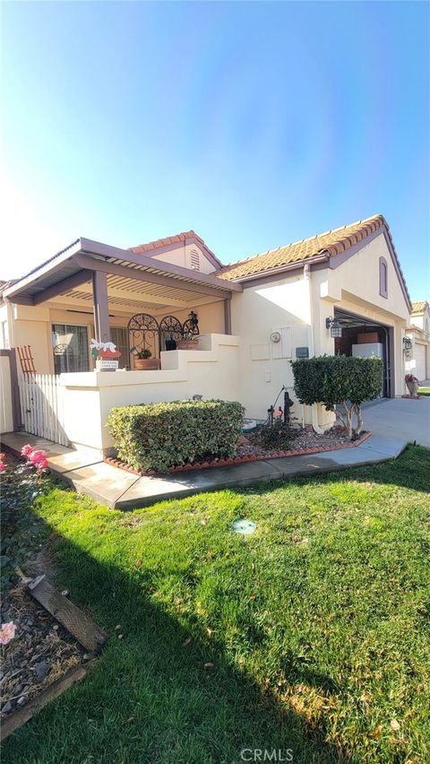
[[[82,268],[88,270],[112,273],[117,276],[124,276],[127,279],[135,279],[139,282],[155,283],[160,284],[161,286],[168,286],[171,289],[175,289],[176,287],[176,289],[193,291],[197,294],[209,295],[210,297],[218,297],[219,300],[222,300],[227,296],[231,296],[231,292],[229,291],[229,284],[227,289],[217,289],[215,287],[209,286],[207,283],[188,282],[184,279],[165,276],[162,273],[152,273],[150,271],[137,270],[136,268],[127,268],[126,265],[107,263],[104,260],[99,260],[88,255],[75,255],[73,256],[73,261],[76,263],[76,265],[80,265]],[[152,268],[155,266],[153,262],[150,265]]]

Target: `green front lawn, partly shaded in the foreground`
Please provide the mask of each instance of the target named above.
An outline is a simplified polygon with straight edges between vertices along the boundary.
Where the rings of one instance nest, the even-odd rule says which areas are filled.
[[[58,584],[110,638],[3,761],[428,761],[429,474],[409,447],[130,513],[54,488],[37,513]]]

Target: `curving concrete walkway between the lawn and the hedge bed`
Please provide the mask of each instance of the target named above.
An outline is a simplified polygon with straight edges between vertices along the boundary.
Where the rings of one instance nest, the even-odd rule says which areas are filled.
[[[406,402],[409,406],[415,402]],[[181,499],[202,491],[243,488],[257,482],[267,482],[327,473],[361,464],[377,464],[399,456],[410,438],[386,438],[374,434],[360,446],[326,451],[308,456],[288,456],[248,464],[177,473],[139,477],[101,462],[90,450],[73,450],[58,446],[50,440],[25,432],[2,436],[2,443],[13,453],[20,454],[30,443],[33,448],[47,452],[49,468],[75,491],[86,493],[100,504],[116,509],[147,507],[162,499]]]

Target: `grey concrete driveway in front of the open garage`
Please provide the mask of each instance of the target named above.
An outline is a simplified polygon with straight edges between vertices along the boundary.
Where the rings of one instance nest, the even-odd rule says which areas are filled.
[[[430,448],[430,397],[383,398],[365,404],[364,427],[383,438],[404,438]]]

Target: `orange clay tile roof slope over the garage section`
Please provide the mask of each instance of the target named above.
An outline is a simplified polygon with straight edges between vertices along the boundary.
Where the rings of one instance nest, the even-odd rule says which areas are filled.
[[[271,249],[262,255],[248,257],[232,265],[226,265],[217,276],[221,279],[244,279],[256,273],[271,271],[273,268],[281,268],[283,265],[297,263],[308,258],[327,253],[330,256],[340,255],[350,247],[354,247],[359,241],[366,239],[375,230],[388,226],[383,215],[374,215],[363,221],[350,223],[334,230],[327,230],[310,239],[302,239],[285,247]]]

